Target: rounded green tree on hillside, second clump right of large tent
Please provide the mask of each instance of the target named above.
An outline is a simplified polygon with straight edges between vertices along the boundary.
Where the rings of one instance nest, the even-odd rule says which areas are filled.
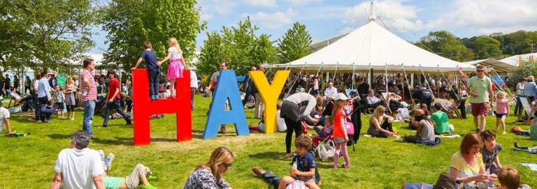
[[[489,36],[479,36],[472,42],[475,59],[488,59],[500,56],[500,42]]]

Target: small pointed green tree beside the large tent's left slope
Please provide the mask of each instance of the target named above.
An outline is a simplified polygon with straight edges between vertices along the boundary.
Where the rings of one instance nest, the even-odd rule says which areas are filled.
[[[310,48],[313,40],[306,30],[306,25],[295,22],[291,29],[288,29],[285,36],[278,39],[278,58],[280,63],[288,63],[300,59],[311,53]]]

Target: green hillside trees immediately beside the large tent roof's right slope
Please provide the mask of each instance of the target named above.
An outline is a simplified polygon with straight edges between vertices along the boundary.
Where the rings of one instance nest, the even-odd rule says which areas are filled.
[[[454,61],[470,61],[473,59],[471,50],[462,45],[461,40],[449,31],[431,31],[420,38],[418,46],[430,50]]]

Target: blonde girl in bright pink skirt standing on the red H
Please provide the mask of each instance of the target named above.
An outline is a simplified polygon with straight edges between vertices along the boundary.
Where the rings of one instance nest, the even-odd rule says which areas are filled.
[[[168,80],[170,80],[170,98],[176,98],[176,79],[182,78],[182,70],[187,69],[185,60],[182,58],[182,50],[179,47],[179,43],[176,38],[170,38],[168,40],[168,56],[162,61],[157,62],[160,66],[165,61],[170,60],[168,66]]]

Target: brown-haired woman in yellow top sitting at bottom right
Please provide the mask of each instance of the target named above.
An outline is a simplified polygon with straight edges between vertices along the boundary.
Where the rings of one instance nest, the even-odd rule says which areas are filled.
[[[487,174],[483,164],[481,138],[478,134],[466,134],[462,139],[460,151],[454,153],[450,160],[450,174],[457,181],[470,188],[475,181],[496,181],[496,174]]]

